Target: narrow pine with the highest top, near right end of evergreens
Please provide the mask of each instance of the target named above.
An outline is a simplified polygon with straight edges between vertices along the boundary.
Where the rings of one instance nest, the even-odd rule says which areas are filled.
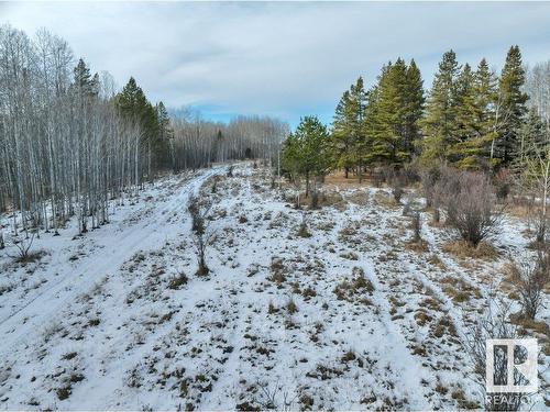
[[[522,91],[525,70],[521,65],[521,52],[512,46],[501,74],[499,104],[503,126],[497,144],[497,157],[504,166],[518,155],[520,149],[519,129],[527,113],[528,96]]]

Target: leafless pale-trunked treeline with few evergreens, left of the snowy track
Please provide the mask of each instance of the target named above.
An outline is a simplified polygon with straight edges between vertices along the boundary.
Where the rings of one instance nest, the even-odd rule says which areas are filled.
[[[172,121],[133,78],[118,91],[63,38],[0,26],[0,213],[13,211],[15,235],[57,232],[73,215],[86,232],[160,170],[276,153],[285,127],[260,118]]]

